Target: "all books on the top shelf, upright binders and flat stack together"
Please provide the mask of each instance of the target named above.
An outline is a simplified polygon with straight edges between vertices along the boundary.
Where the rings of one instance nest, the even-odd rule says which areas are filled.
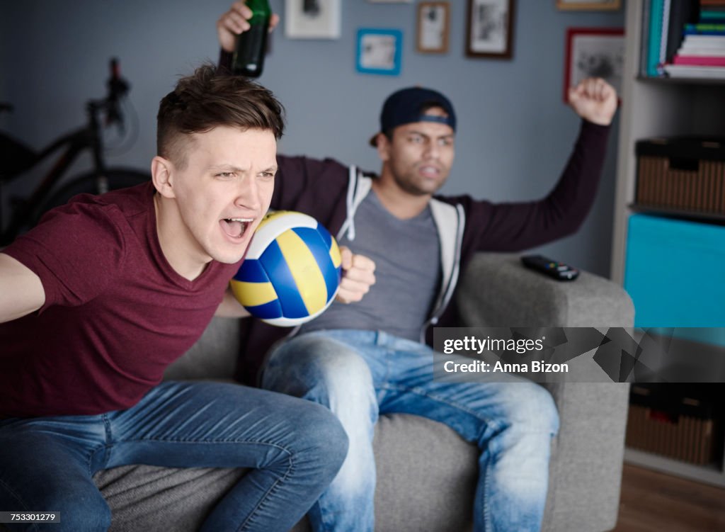
[[[639,74],[725,79],[725,0],[645,0]]]

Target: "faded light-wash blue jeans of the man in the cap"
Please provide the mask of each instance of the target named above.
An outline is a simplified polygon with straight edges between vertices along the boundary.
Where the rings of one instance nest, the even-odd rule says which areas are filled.
[[[308,514],[315,531],[373,531],[373,432],[392,412],[442,422],[479,447],[476,531],[541,528],[558,431],[550,394],[519,377],[444,382],[433,370],[431,348],[385,332],[308,332],[270,353],[263,388],[327,406],[349,438],[347,459]]]

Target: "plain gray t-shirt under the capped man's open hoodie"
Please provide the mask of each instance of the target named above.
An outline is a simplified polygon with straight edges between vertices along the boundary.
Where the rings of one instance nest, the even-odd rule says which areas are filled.
[[[382,330],[420,340],[441,276],[440,242],[431,208],[400,220],[370,191],[355,213],[355,240],[347,240],[346,234],[339,244],[375,261],[376,284],[357,303],[335,301],[302,325],[300,332]]]

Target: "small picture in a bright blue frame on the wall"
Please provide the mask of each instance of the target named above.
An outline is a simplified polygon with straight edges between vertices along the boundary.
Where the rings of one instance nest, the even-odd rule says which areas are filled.
[[[399,75],[402,66],[403,32],[384,28],[357,30],[357,72]]]

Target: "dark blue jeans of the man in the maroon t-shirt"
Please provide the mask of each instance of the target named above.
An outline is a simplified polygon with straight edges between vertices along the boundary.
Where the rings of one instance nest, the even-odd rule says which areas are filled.
[[[60,512],[45,526],[53,531],[107,530],[94,472],[148,464],[251,467],[202,530],[287,532],[334,478],[347,437],[327,409],[297,398],[165,382],[127,410],[0,420],[0,449],[0,509]],[[25,527],[17,529],[38,530]]]

